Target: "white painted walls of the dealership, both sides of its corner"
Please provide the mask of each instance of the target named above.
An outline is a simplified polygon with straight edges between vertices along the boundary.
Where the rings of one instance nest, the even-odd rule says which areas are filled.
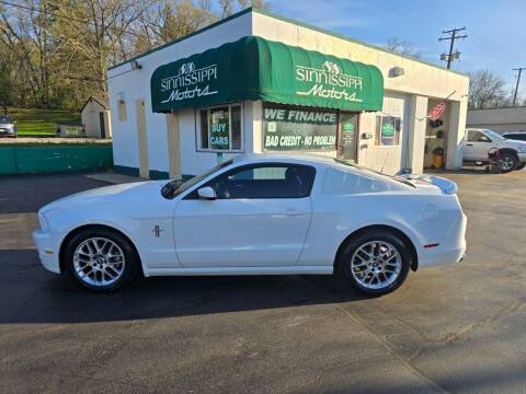
[[[235,42],[243,36],[258,35],[267,39],[278,40],[288,45],[301,46],[306,49],[319,50],[323,54],[348,58],[377,66],[385,79],[386,101],[385,113],[399,113],[403,118],[401,143],[420,140],[409,138],[413,130],[409,118],[411,96],[444,99],[451,92],[453,102],[459,102],[465,108],[469,79],[438,67],[403,58],[367,45],[333,36],[315,28],[300,26],[288,21],[272,18],[258,11],[248,12],[219,24],[210,30],[191,36],[171,46],[139,57],[140,70],[130,71],[130,65],[125,63],[108,71],[110,107],[117,114],[117,97],[124,96],[127,105],[127,119],[119,121],[118,116],[112,117],[114,139],[114,162],[116,165],[138,167],[137,130],[135,116],[135,100],[146,102],[146,120],[148,132],[148,151],[150,170],[168,171],[167,119],[164,114],[151,112],[150,78],[161,65],[186,58],[208,48],[218,47],[228,42]],[[390,78],[389,70],[398,66],[404,69],[404,74]],[[411,112],[413,116],[414,112]],[[461,114],[460,114],[461,115]],[[261,103],[244,103],[244,147],[247,152],[261,151]],[[461,119],[462,116],[459,116]],[[196,152],[195,115],[193,109],[180,112],[182,173],[195,175],[217,163],[216,153]],[[361,116],[361,132],[375,132],[374,114],[364,113]],[[458,127],[458,138],[464,138],[464,124]],[[390,173],[403,167],[401,146],[393,148],[376,147],[373,140],[361,141],[359,163]],[[422,141],[423,143],[423,141]],[[416,147],[418,148],[418,147]],[[416,149],[415,151],[419,151]],[[229,155],[224,154],[224,159]]]

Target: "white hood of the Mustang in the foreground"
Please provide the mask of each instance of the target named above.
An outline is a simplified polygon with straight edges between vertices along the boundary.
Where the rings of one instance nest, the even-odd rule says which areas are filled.
[[[58,210],[72,208],[79,205],[92,204],[123,204],[126,200],[148,200],[148,196],[160,196],[161,187],[167,181],[147,181],[98,187],[80,192],[67,197],[59,198],[41,209],[44,215],[50,215]]]

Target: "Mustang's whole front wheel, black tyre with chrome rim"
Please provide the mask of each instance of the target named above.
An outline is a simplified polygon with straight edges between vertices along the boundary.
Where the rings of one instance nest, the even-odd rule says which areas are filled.
[[[119,288],[133,279],[139,266],[129,241],[102,228],[75,235],[66,245],[64,256],[70,276],[94,291]]]

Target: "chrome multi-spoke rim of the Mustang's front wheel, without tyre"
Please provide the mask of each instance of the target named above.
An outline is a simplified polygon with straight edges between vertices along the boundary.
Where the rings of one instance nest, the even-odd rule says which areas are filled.
[[[80,280],[104,287],[115,283],[124,273],[123,250],[106,237],[82,241],[73,254],[73,268]]]

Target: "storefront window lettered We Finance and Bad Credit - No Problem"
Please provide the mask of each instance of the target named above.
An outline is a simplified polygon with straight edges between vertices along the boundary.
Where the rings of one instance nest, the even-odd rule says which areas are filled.
[[[338,113],[330,109],[263,106],[263,146],[272,150],[335,150]]]

